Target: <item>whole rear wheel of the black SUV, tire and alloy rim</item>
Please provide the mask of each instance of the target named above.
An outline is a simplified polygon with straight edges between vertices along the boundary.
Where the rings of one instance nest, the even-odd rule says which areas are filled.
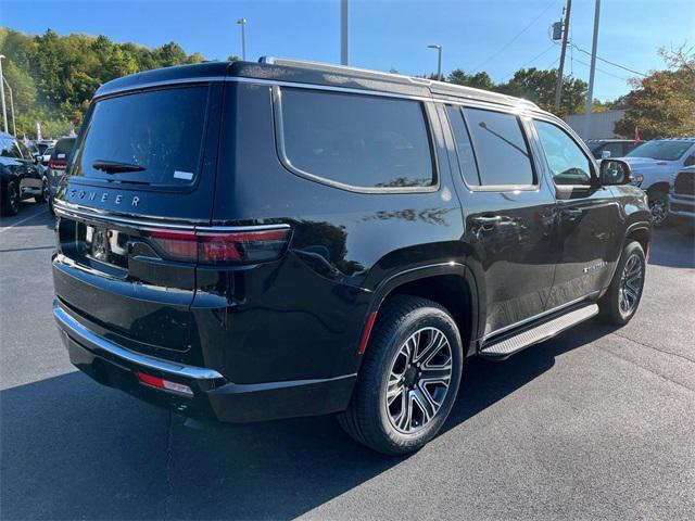
[[[448,312],[425,298],[393,296],[379,312],[340,424],[380,453],[415,452],[446,420],[462,367],[460,335]]]

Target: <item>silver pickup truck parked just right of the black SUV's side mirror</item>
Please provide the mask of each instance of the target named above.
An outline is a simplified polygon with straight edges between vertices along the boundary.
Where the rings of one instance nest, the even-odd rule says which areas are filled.
[[[675,174],[695,165],[695,138],[655,139],[626,155],[633,183],[647,193],[654,226],[668,216],[669,187]]]

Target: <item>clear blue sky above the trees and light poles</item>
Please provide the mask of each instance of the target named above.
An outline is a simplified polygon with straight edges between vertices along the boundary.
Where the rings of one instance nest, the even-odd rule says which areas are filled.
[[[350,0],[350,64],[404,74],[437,67],[429,43],[443,47],[443,69],[488,71],[495,81],[521,66],[548,68],[559,47],[548,26],[564,0]],[[236,20],[248,23],[248,58],[264,54],[338,62],[339,0],[256,1],[0,1],[0,24],[25,33],[105,34],[114,41],[156,47],[176,41],[224,60],[241,54]],[[594,0],[572,3],[571,39],[591,50]],[[538,18],[534,23],[532,23]],[[532,24],[531,24],[532,23]],[[519,33],[529,26],[526,31]],[[516,39],[515,39],[516,37]],[[695,45],[693,0],[604,0],[598,55],[637,72],[662,68],[660,46]],[[587,79],[590,59],[574,50],[566,71]],[[583,62],[583,63],[581,63]],[[631,73],[598,62],[595,97],[629,90]]]

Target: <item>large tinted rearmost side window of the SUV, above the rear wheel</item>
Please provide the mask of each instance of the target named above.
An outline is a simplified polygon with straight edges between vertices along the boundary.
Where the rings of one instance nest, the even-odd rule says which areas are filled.
[[[283,158],[290,168],[352,187],[433,183],[419,102],[307,89],[280,92]]]

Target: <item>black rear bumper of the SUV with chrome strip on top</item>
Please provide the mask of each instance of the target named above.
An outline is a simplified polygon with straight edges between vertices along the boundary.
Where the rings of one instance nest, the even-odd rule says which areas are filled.
[[[92,379],[151,404],[203,420],[248,423],[318,416],[348,407],[356,374],[331,379],[235,384],[214,369],[142,355],[99,336],[61,304],[53,316],[72,364]],[[192,397],[140,383],[137,373],[164,378],[193,391]]]

